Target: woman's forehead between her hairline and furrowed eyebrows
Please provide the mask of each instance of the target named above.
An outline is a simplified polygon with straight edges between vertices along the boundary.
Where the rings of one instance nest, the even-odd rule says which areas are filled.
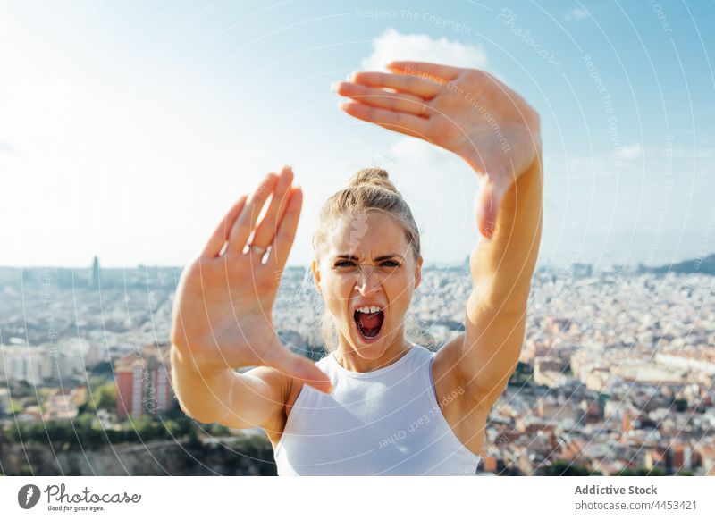
[[[389,214],[376,211],[341,217],[333,222],[325,236],[328,255],[397,253],[404,256],[408,247],[400,223]]]

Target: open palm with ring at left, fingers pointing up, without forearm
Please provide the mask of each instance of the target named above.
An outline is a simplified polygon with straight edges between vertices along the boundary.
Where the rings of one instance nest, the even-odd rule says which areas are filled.
[[[224,216],[201,255],[181,274],[171,340],[201,371],[268,365],[327,391],[328,377],[306,357],[282,347],[273,329],[273,302],[303,201],[292,181],[290,167],[280,176],[269,173],[251,197],[240,197]]]

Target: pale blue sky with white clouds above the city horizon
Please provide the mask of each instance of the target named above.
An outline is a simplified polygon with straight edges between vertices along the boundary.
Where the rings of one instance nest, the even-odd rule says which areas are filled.
[[[461,159],[342,113],[333,81],[419,59],[489,71],[541,115],[539,264],[715,252],[715,4],[0,3],[0,265],[183,265],[290,164],[290,265],[327,197],[386,168],[427,264],[464,264]],[[709,30],[710,29],[710,30]]]

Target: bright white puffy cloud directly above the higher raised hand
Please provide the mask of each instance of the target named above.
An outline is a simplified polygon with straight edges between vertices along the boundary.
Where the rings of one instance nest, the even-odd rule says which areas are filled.
[[[486,69],[489,64],[482,46],[469,46],[447,38],[434,39],[425,34],[402,34],[387,29],[373,40],[373,54],[364,58],[366,70],[382,70],[391,60],[417,60]]]

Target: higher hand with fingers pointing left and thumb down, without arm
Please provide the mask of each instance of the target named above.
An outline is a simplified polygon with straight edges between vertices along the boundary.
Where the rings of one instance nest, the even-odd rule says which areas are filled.
[[[366,122],[422,138],[462,157],[482,181],[475,211],[492,236],[501,199],[541,160],[539,115],[491,74],[436,63],[392,62],[391,73],[355,72],[333,89],[341,108]]]

